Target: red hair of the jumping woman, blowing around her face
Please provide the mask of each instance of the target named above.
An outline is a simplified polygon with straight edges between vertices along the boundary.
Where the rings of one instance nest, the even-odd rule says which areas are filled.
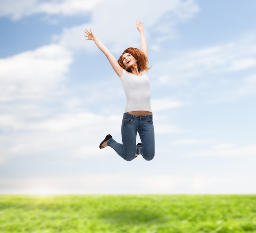
[[[132,55],[135,58],[135,60],[137,60],[138,71],[144,71],[144,70],[150,69],[150,67],[148,67],[148,58],[147,58],[146,54],[144,52],[142,52],[140,49],[130,47],[130,48],[126,49],[117,60],[119,66],[122,67],[123,69],[125,69],[126,71],[132,72],[132,69],[134,69],[134,68],[124,66],[123,55],[125,53],[130,53],[130,55]]]

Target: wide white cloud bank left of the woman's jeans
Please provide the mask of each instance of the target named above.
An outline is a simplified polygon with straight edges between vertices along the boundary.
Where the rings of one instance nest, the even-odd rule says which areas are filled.
[[[30,113],[33,115],[33,112],[29,112],[25,116],[0,116],[0,129],[5,132],[5,136],[0,135],[2,160],[55,149],[65,150],[70,155],[92,156],[97,151],[99,154],[98,144],[107,131],[111,130],[114,134],[120,131],[117,122],[121,117],[117,115],[81,112],[33,119],[29,118]]]

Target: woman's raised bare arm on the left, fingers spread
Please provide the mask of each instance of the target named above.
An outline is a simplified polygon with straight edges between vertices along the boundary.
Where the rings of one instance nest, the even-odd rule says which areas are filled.
[[[112,68],[114,69],[114,71],[117,73],[117,75],[119,77],[121,77],[123,75],[123,68],[119,66],[117,60],[110,53],[110,51],[107,49],[107,47],[94,35],[92,29],[90,29],[90,31],[85,29],[85,33],[86,33],[85,37],[87,37],[87,39],[85,39],[85,40],[93,40],[94,41],[94,43],[97,45],[97,47],[106,55],[106,57],[108,58],[108,61],[110,62]]]

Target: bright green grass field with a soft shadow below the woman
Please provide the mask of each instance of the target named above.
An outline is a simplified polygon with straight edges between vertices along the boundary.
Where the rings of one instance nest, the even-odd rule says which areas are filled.
[[[256,195],[0,195],[0,233],[256,233]]]

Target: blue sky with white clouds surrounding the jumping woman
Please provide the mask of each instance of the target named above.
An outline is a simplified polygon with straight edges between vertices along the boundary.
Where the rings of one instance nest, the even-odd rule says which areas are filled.
[[[0,2],[0,193],[256,193],[256,2]],[[156,154],[126,162],[118,58],[148,44]],[[139,136],[137,137],[139,142]]]

